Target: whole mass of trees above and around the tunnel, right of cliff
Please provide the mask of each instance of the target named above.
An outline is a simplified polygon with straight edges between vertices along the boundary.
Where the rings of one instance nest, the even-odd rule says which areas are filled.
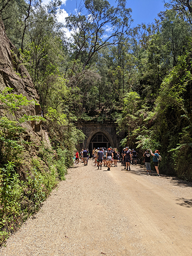
[[[40,94],[54,147],[78,146],[82,135],[75,125],[82,120],[113,121],[126,133],[122,146],[141,154],[158,148],[161,171],[192,179],[184,169],[186,161],[192,169],[192,2],[167,0],[154,23],[135,28],[125,0],[116,6],[84,0],[66,24],[56,18],[60,4],[0,3],[7,34]]]

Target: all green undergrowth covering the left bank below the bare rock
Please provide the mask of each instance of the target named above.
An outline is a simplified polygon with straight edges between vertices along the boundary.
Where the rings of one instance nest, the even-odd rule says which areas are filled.
[[[0,245],[29,216],[36,213],[59,180],[65,180],[68,151],[37,145],[23,122],[44,120],[39,116],[17,118],[21,106],[36,104],[6,88],[0,94]],[[8,118],[9,117],[9,118]],[[11,117],[11,118],[10,118]],[[27,135],[27,136],[26,136]],[[28,141],[29,139],[29,141]],[[40,141],[38,142],[40,143]],[[30,153],[33,152],[33,157]]]

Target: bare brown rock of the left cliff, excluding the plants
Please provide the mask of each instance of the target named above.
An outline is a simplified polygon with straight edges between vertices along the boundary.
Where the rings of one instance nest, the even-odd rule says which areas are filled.
[[[8,39],[4,24],[0,19],[0,93],[6,87],[13,88],[13,93],[22,94],[28,100],[35,100],[37,104],[22,107],[18,111],[17,118],[27,114],[28,116],[41,116],[42,110],[39,105],[39,95],[34,87],[27,69],[18,58],[16,47]],[[3,105],[0,102],[0,116],[4,115]],[[11,117],[10,117],[11,118]],[[50,146],[48,136],[42,130],[41,121],[27,121],[22,124],[25,127],[25,140],[34,142],[35,146],[29,149],[30,155],[35,155],[36,146],[41,145],[42,140]]]

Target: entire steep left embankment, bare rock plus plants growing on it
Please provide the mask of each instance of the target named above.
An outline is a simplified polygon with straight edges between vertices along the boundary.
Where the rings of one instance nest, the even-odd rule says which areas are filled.
[[[48,133],[42,129],[40,118],[31,118],[42,114],[39,95],[0,20],[1,95],[7,87],[12,88],[11,93],[4,93],[0,100],[0,246],[10,233],[16,231],[28,216],[41,207],[58,180]],[[22,94],[23,97],[14,94]],[[11,100],[21,98],[27,104],[20,104],[17,110],[13,108],[11,112],[9,104],[14,106],[14,102],[10,99],[6,101],[6,97],[12,97]],[[24,114],[30,119],[19,124],[18,120]],[[20,129],[20,125],[24,129]],[[22,145],[22,148],[18,145]]]

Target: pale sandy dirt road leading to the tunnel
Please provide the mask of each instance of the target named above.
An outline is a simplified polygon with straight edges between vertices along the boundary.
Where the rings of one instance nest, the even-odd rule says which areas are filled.
[[[74,165],[0,255],[192,255],[192,187],[120,165]]]

